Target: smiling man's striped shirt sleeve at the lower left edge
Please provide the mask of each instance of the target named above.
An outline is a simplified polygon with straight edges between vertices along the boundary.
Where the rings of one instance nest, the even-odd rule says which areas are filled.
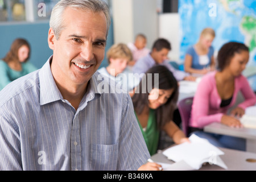
[[[0,171],[22,170],[19,134],[0,115]]]

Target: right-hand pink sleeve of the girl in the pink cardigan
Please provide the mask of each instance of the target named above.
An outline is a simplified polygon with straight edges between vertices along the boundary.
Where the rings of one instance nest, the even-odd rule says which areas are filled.
[[[255,93],[253,92],[253,89],[251,89],[246,77],[241,76],[239,84],[241,84],[241,92],[243,94],[243,97],[245,98],[245,101],[239,104],[238,107],[245,109],[248,106],[255,105],[256,96]]]

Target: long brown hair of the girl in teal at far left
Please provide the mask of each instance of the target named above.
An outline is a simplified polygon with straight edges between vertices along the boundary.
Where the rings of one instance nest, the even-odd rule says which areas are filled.
[[[6,63],[9,63],[10,61],[12,60],[19,60],[19,57],[18,57],[18,51],[19,51],[19,48],[22,47],[22,46],[27,46],[28,49],[30,50],[30,44],[27,42],[27,40],[25,39],[15,39],[13,44],[11,44],[11,48],[10,48],[10,51],[7,52],[6,56],[3,58],[3,60],[6,62]],[[25,60],[25,62],[30,59],[30,52],[28,53],[28,57],[27,59]]]

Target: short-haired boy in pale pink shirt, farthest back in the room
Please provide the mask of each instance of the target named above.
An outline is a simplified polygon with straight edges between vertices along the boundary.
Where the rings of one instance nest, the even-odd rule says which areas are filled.
[[[147,46],[147,38],[144,34],[138,34],[135,38],[134,43],[128,43],[127,46],[131,49],[133,53],[133,61],[129,65],[134,65],[141,57],[146,56],[150,49]]]

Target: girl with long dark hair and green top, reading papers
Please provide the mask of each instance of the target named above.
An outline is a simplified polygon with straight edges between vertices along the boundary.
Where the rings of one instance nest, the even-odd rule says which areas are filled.
[[[160,130],[164,130],[176,144],[189,141],[172,121],[178,95],[177,81],[163,65],[150,68],[135,89],[132,97],[134,111],[150,155],[156,153]],[[155,163],[146,163],[140,169],[158,170],[159,167]]]

